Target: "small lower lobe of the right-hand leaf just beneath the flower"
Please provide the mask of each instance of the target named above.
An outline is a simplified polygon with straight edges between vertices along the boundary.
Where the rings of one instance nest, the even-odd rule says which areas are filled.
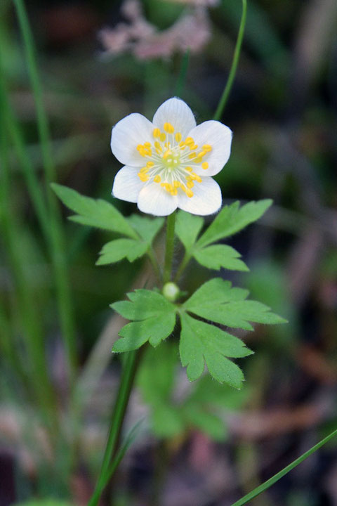
[[[249,271],[246,264],[239,260],[241,255],[236,249],[227,245],[213,245],[193,252],[193,257],[199,264],[207,268],[219,271],[221,267],[230,269],[231,271]]]

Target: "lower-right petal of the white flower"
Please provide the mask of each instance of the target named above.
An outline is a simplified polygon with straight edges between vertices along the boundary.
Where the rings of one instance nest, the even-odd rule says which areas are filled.
[[[194,184],[192,192],[193,197],[187,197],[185,193],[179,193],[178,195],[178,207],[183,211],[205,216],[220,209],[222,202],[221,190],[214,179],[203,178],[201,183]]]

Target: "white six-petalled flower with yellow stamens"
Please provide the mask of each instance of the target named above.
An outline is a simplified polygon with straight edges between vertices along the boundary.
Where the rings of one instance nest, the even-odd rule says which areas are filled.
[[[197,126],[180,98],[166,100],[152,122],[133,113],[112,129],[112,153],[125,166],[116,174],[112,195],[137,202],[140,211],[167,216],[180,207],[213,214],[221,190],[211,176],[230,157],[232,131],[217,121]]]

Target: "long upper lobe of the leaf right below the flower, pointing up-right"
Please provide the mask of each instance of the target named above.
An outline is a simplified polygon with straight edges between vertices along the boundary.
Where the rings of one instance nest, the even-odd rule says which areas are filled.
[[[212,242],[227,238],[242,228],[258,220],[272,205],[272,200],[258,200],[258,202],[249,202],[239,207],[239,202],[234,202],[230,206],[221,209],[213,223],[206,229],[205,233],[197,242],[198,247],[204,247]]]

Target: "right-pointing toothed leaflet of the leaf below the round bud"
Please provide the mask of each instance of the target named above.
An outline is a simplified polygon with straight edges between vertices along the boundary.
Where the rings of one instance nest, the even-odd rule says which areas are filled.
[[[245,330],[253,330],[249,322],[286,323],[265,304],[244,300],[247,295],[246,290],[232,288],[228,281],[215,278],[202,285],[183,304],[183,309],[206,320]]]

